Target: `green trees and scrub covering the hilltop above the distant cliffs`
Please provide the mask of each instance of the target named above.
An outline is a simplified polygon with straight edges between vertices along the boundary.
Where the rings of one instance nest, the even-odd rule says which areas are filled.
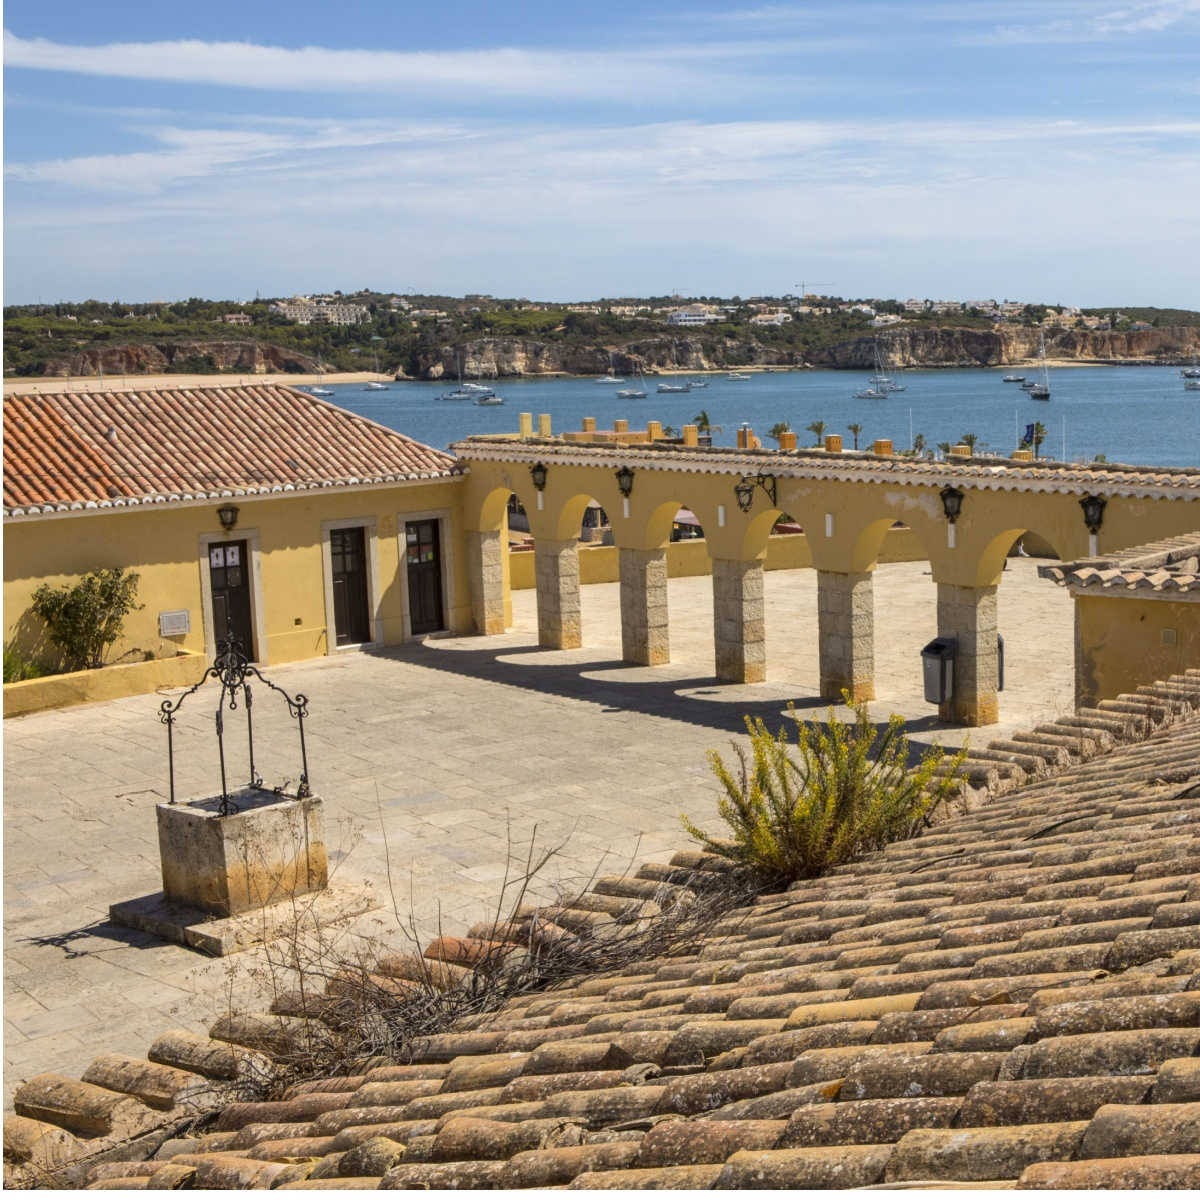
[[[816,312],[799,312],[794,296],[755,298],[758,307],[792,308],[793,319],[782,325],[754,324],[755,304],[739,296],[653,296],[648,299],[598,300],[587,307],[595,312],[572,312],[562,304],[533,305],[527,300],[497,300],[491,296],[406,296],[408,307],[394,305],[392,296],[361,292],[335,299],[364,305],[370,319],[356,325],[299,325],[271,312],[270,300],[244,305],[228,300],[192,298],[172,304],[124,304],[88,300],[82,304],[24,305],[5,308],[5,373],[41,376],[62,373],[64,364],[82,353],[138,346],[172,346],[178,350],[166,368],[182,373],[216,370],[217,359],[204,343],[257,342],[294,352],[323,364],[330,371],[373,370],[378,356],[382,371],[416,373],[420,361],[428,361],[449,344],[485,337],[533,338],[568,346],[622,347],[653,338],[678,338],[698,344],[714,358],[716,348],[756,344],[780,353],[784,360],[799,361],[812,352],[875,330],[868,313],[848,307],[840,296],[809,301]],[[706,325],[672,325],[666,313],[684,304],[702,302],[727,308],[726,319]],[[994,322],[974,310],[954,313],[906,313],[895,300],[863,301],[880,313],[895,313],[902,324],[888,330],[955,328],[990,330]],[[847,307],[842,307],[846,305]],[[583,306],[574,306],[583,307]],[[642,308],[636,314],[619,310]],[[613,311],[618,310],[618,311]],[[652,310],[652,311],[646,311]],[[1033,324],[1051,310],[1027,305],[1016,318]],[[1145,320],[1152,325],[1200,325],[1200,312],[1174,308],[1086,310],[1116,319],[1116,328]],[[232,325],[221,318],[245,313],[250,325]],[[1117,314],[1121,314],[1120,317]],[[726,361],[739,361],[737,353]]]

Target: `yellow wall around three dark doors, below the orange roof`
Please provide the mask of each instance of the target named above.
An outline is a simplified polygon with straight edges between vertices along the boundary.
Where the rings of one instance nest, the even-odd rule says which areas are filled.
[[[322,522],[374,520],[377,528],[379,596],[383,641],[403,640],[402,550],[397,530],[406,514],[445,510],[449,516],[443,563],[449,559],[450,605],[446,625],[455,632],[472,628],[467,552],[462,538],[461,480],[437,480],[413,486],[364,488],[354,492],[316,492],[254,499],[238,497],[236,528],[223,534],[217,503],[194,508],[132,509],[102,515],[6,521],[4,529],[5,643],[14,643],[26,656],[53,659],[54,648],[40,647],[41,622],[29,613],[38,584],[74,582],[89,570],[127,566],[140,576],[138,600],[144,605],[125,623],[125,636],[109,661],[169,658],[180,650],[210,652],[204,644],[202,572],[208,570],[200,536],[250,538],[257,533],[263,625],[266,653],[259,659],[289,662],[325,654],[329,644],[325,612]],[[444,566],[445,569],[445,566]],[[158,613],[186,608],[191,632],[173,638],[158,636]]]

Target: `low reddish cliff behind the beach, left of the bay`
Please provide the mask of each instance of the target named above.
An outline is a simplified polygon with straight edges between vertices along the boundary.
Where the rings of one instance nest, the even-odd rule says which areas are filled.
[[[47,376],[163,374],[187,371],[238,371],[242,374],[310,374],[317,362],[307,354],[262,342],[158,342],[140,346],[88,346],[46,364]]]

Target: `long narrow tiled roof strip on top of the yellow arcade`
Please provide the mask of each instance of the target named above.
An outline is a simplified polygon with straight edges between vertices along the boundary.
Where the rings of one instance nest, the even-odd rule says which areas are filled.
[[[684,446],[668,442],[613,446],[610,443],[565,442],[562,438],[479,434],[450,446],[467,462],[547,462],[581,467],[630,466],[653,470],[686,470],[715,475],[772,472],[781,479],[844,480],[901,487],[962,484],[984,491],[1063,492],[1104,496],[1200,496],[1200,469],[1136,467],[1120,463],[1058,463],[1040,460],[947,458],[934,462],[866,450],[740,450],[730,446]]]

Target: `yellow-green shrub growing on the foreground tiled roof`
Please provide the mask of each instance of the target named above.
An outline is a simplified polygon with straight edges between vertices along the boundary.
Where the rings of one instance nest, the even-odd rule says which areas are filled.
[[[762,720],[748,716],[749,755],[734,743],[738,775],[720,754],[708,752],[725,790],[718,811],[732,840],[709,836],[686,816],[684,828],[710,852],[774,883],[811,878],[912,835],[955,790],[966,751],[950,760],[949,772],[935,775],[944,751],[932,746],[910,769],[904,718],[893,714],[876,730],[865,703],[853,708],[852,725],[839,721],[833,708],[827,726],[798,721],[794,755],[786,728],[772,737]],[[791,704],[788,713],[796,716]]]

